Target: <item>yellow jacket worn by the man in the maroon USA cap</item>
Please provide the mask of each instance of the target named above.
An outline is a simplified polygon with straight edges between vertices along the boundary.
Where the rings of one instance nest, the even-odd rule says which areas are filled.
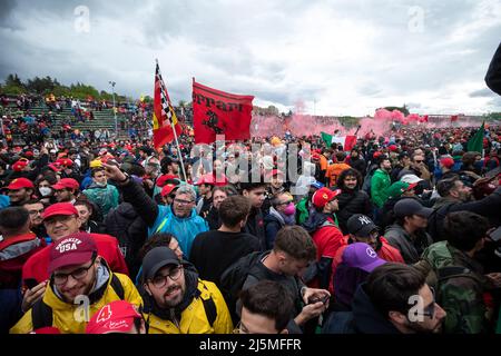
[[[107,267],[107,266],[106,266]],[[107,267],[108,268],[108,267]],[[119,296],[111,286],[112,273],[110,274],[106,290],[102,296],[89,306],[88,319],[101,307],[114,300],[120,300]],[[115,274],[124,288],[124,300],[127,300],[137,307],[143,305],[143,298],[136,289],[130,278],[122,274]],[[43,303],[52,308],[52,326],[57,327],[61,334],[85,334],[87,322],[85,320],[84,307],[78,304],[68,304],[61,300],[49,286],[43,295]],[[33,329],[32,309],[28,310],[22,318],[11,329],[10,334],[29,334]],[[81,320],[81,322],[78,322]]]

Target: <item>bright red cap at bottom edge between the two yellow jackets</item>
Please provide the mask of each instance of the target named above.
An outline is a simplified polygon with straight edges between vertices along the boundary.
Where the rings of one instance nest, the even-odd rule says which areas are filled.
[[[128,333],[143,316],[126,300],[115,300],[100,308],[89,320],[86,334]]]

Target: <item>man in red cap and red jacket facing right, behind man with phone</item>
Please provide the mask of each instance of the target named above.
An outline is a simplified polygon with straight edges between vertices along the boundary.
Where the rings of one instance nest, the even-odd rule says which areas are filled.
[[[310,285],[322,289],[333,290],[332,268],[337,249],[345,245],[343,234],[335,224],[334,212],[338,210],[337,196],[341,190],[321,188],[312,197],[315,211],[303,225],[312,235],[316,246],[316,271],[310,276]]]

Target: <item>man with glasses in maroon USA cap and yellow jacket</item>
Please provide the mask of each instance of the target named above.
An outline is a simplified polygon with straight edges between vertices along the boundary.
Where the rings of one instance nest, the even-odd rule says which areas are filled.
[[[111,270],[90,234],[77,233],[49,248],[50,281],[43,297],[16,324],[11,334],[57,327],[62,334],[84,334],[90,317],[106,304],[143,299],[129,277]]]

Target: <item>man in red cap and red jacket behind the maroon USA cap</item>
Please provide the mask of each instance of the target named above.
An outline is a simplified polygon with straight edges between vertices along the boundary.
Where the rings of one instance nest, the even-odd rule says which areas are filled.
[[[78,219],[78,210],[69,202],[51,205],[43,211],[42,217],[47,234],[53,243],[59,241],[68,235],[77,234],[81,224]],[[128,275],[127,265],[118,247],[117,239],[102,234],[90,234],[90,236],[96,243],[99,255],[106,259],[111,270]],[[22,267],[22,280],[35,279],[37,283],[42,284],[49,278],[47,273],[49,260],[50,246],[43,248],[27,260]],[[37,296],[39,297],[39,295]],[[30,304],[36,301],[37,296],[31,290],[27,291],[27,295],[24,295],[24,310],[27,310]]]

